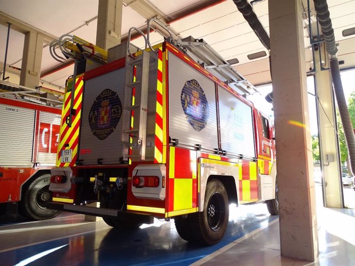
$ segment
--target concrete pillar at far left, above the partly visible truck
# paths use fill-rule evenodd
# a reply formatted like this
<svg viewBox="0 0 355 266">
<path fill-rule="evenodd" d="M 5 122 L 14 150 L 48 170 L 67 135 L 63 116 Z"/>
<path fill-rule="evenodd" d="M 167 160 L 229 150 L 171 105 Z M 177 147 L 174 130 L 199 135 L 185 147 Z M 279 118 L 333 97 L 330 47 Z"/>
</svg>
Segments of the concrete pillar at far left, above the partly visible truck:
<svg viewBox="0 0 355 266">
<path fill-rule="evenodd" d="M 35 88 L 40 84 L 43 36 L 29 31 L 25 34 L 20 85 Z"/>
</svg>

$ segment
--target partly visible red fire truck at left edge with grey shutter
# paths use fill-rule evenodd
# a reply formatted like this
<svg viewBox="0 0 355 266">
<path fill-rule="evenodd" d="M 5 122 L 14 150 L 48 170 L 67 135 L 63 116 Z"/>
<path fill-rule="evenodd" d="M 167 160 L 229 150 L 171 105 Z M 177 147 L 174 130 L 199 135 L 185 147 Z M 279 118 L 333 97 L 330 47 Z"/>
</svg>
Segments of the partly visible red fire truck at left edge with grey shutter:
<svg viewBox="0 0 355 266">
<path fill-rule="evenodd" d="M 12 214 L 18 208 L 35 220 L 53 218 L 59 211 L 44 204 L 51 201 L 61 112 L 20 99 L 0 97 L 0 208 Z"/>
</svg>

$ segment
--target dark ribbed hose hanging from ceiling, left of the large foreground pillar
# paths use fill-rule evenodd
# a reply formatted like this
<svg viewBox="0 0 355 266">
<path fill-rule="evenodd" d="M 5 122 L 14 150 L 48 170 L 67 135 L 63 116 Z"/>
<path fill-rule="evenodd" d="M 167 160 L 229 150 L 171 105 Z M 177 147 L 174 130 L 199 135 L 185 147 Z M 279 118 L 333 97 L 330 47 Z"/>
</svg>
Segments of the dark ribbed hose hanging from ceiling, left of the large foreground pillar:
<svg viewBox="0 0 355 266">
<path fill-rule="evenodd" d="M 262 45 L 270 50 L 270 37 L 268 32 L 261 25 L 249 2 L 246 0 L 233 0 L 233 2 L 236 4 L 239 12 L 244 16 L 246 22 L 249 23 L 250 27 L 254 30 Z"/>
</svg>

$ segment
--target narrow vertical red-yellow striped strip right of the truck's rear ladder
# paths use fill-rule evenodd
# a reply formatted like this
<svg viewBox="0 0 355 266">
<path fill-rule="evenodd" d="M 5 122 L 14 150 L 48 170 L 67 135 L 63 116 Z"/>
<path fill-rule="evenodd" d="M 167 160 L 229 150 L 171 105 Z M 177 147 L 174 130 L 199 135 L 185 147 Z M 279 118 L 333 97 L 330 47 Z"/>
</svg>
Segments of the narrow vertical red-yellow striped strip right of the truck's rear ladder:
<svg viewBox="0 0 355 266">
<path fill-rule="evenodd" d="M 158 48 L 158 69 L 156 82 L 156 115 L 155 115 L 155 141 L 154 163 L 165 163 L 163 160 L 163 49 Z"/>
</svg>

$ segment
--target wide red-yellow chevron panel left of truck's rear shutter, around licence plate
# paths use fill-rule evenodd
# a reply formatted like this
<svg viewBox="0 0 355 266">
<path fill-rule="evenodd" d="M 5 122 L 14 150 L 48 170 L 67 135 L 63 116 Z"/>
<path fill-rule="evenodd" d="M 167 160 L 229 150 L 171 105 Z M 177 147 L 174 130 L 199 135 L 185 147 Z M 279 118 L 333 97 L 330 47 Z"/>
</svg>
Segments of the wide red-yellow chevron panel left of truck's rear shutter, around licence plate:
<svg viewBox="0 0 355 266">
<path fill-rule="evenodd" d="M 76 114 L 73 116 L 72 127 L 68 127 L 65 121 L 70 113 L 70 102 L 72 101 L 72 83 L 70 80 L 67 82 L 67 87 L 65 90 L 65 100 L 62 109 L 62 121 L 60 127 L 60 136 L 58 144 L 58 154 L 57 154 L 57 167 L 67 167 L 74 166 L 77 161 L 78 155 L 78 141 L 79 141 L 79 126 L 80 126 L 80 116 L 81 116 L 81 101 L 83 92 L 83 75 L 79 75 L 75 83 L 74 92 L 74 105 L 73 108 L 76 110 Z M 71 163 L 61 163 L 60 156 L 62 150 L 72 149 L 72 162 Z"/>
</svg>

